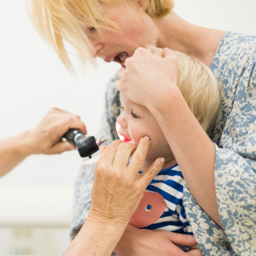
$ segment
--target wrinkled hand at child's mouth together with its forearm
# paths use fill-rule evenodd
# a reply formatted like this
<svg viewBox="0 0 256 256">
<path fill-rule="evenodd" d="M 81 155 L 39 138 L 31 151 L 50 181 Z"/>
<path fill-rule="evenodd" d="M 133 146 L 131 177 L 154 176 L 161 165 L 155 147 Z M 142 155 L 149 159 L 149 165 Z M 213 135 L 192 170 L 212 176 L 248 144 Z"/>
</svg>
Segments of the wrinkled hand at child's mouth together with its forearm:
<svg viewBox="0 0 256 256">
<path fill-rule="evenodd" d="M 162 170 L 164 159 L 156 159 L 138 175 L 149 147 L 150 140 L 145 137 L 141 138 L 137 149 L 135 144 L 114 141 L 103 151 L 96 166 L 88 219 L 64 255 L 112 254 L 144 189 Z"/>
</svg>

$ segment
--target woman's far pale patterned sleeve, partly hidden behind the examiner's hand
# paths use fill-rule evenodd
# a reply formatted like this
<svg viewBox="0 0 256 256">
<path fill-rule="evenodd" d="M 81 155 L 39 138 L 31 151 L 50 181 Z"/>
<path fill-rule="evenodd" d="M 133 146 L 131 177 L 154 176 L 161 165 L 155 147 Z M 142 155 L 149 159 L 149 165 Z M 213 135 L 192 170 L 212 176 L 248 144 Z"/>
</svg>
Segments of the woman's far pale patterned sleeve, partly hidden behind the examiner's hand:
<svg viewBox="0 0 256 256">
<path fill-rule="evenodd" d="M 98 138 L 106 138 L 106 145 L 109 145 L 112 141 L 118 138 L 118 134 L 115 129 L 115 121 L 118 117 L 119 92 L 115 90 L 114 83 L 118 79 L 115 76 L 106 88 L 106 106 L 103 113 L 103 118 L 100 122 L 100 131 L 97 132 Z M 99 154 L 97 152 L 95 156 Z M 73 204 L 73 216 L 71 222 L 71 238 L 74 239 L 76 234 L 79 233 L 82 225 L 88 217 L 88 211 L 91 206 L 91 187 L 94 182 L 94 165 L 82 165 L 79 170 L 79 176 L 77 177 L 75 184 L 75 196 Z"/>
</svg>

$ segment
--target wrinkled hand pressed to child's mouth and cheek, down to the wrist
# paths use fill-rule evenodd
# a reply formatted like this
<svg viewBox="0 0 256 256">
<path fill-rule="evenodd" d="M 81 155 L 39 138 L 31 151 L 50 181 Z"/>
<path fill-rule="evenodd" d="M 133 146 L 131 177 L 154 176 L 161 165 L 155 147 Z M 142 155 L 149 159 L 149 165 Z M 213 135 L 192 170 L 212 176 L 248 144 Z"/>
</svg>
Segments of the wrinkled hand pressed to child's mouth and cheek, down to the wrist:
<svg viewBox="0 0 256 256">
<path fill-rule="evenodd" d="M 137 149 L 135 144 L 120 140 L 105 148 L 96 166 L 87 222 L 115 225 L 122 230 L 127 227 L 144 190 L 164 163 L 164 159 L 156 159 L 153 165 L 138 175 L 149 147 L 150 141 L 145 137 L 141 138 Z"/>
</svg>

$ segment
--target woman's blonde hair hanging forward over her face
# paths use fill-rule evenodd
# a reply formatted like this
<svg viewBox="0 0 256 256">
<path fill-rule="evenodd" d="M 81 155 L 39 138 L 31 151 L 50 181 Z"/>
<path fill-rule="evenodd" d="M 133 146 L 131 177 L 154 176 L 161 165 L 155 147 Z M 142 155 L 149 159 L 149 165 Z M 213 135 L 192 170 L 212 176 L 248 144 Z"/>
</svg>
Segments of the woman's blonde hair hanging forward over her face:
<svg viewBox="0 0 256 256">
<path fill-rule="evenodd" d="M 142 10 L 150 16 L 161 17 L 174 7 L 174 0 L 146 0 Z M 100 3 L 117 4 L 125 0 L 27 0 L 28 13 L 40 35 L 53 46 L 68 70 L 73 70 L 64 42 L 70 43 L 78 52 L 82 63 L 93 62 L 93 46 L 86 26 L 100 33 L 107 28 L 118 30 L 115 22 L 106 19 Z"/>
</svg>

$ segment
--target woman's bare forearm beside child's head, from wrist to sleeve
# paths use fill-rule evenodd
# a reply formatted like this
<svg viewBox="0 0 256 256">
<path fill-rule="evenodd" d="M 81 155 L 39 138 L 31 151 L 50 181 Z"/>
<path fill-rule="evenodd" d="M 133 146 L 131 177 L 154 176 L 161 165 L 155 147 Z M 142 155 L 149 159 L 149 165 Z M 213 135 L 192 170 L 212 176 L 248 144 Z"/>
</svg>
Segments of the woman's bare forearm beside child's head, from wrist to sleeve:
<svg viewBox="0 0 256 256">
<path fill-rule="evenodd" d="M 190 192 L 204 212 L 221 227 L 213 142 L 192 115 L 180 91 L 169 94 L 165 102 L 149 109 L 168 140 Z"/>
</svg>

